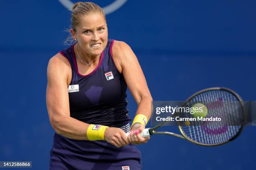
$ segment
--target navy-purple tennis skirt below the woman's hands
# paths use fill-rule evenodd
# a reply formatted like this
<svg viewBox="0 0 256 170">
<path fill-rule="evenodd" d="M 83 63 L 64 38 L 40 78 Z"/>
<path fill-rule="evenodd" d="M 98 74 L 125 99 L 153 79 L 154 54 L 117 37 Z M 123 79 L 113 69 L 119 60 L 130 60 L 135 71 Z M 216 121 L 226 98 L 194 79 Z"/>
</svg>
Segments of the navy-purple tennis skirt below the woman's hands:
<svg viewBox="0 0 256 170">
<path fill-rule="evenodd" d="M 73 140 L 55 133 L 50 170 L 141 170 L 141 153 L 133 144 L 117 148 L 105 140 Z"/>
</svg>

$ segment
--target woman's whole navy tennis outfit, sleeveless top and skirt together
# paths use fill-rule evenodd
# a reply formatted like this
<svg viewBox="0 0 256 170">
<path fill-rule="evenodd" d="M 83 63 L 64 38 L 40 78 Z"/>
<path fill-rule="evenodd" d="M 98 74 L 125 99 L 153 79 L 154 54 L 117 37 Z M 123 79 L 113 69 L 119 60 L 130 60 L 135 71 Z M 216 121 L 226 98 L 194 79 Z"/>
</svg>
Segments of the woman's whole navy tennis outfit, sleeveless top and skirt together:
<svg viewBox="0 0 256 170">
<path fill-rule="evenodd" d="M 127 85 L 113 62 L 113 42 L 108 40 L 99 64 L 89 75 L 79 74 L 74 45 L 60 53 L 72 67 L 72 81 L 68 87 L 70 116 L 89 124 L 123 129 L 131 119 L 126 109 Z M 50 170 L 120 170 L 127 165 L 133 170 L 141 170 L 141 153 L 133 144 L 117 148 L 105 140 L 74 140 L 54 134 Z"/>
</svg>

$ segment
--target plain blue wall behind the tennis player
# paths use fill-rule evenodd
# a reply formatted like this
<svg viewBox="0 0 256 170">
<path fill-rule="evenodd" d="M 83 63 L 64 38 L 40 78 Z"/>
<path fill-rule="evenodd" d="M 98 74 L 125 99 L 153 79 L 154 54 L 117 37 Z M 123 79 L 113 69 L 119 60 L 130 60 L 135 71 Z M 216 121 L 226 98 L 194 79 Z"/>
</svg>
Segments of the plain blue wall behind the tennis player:
<svg viewBox="0 0 256 170">
<path fill-rule="evenodd" d="M 104 7 L 113 0 L 92 2 Z M 70 12 L 58 0 L 0 3 L 0 160 L 28 160 L 33 169 L 46 170 L 54 134 L 45 101 L 46 67 L 66 48 L 62 42 Z M 154 100 L 186 100 L 215 86 L 256 100 L 255 9 L 255 0 L 128 0 L 107 15 L 109 38 L 132 47 Z M 128 101 L 133 117 L 136 103 L 130 92 Z M 179 133 L 177 127 L 168 129 Z M 152 136 L 137 148 L 144 170 L 254 169 L 255 130 L 246 127 L 239 138 L 219 147 Z"/>
</svg>

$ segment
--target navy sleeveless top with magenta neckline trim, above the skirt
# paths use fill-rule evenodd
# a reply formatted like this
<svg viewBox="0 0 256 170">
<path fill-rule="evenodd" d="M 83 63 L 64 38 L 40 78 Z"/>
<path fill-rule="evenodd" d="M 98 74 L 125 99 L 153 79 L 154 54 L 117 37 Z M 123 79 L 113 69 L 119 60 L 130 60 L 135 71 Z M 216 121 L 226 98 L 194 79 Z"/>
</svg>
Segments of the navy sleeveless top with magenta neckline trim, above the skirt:
<svg viewBox="0 0 256 170">
<path fill-rule="evenodd" d="M 108 40 L 100 62 L 88 75 L 78 72 L 74 45 L 61 50 L 72 67 L 72 81 L 68 87 L 70 116 L 89 124 L 120 127 L 131 119 L 126 109 L 127 85 L 118 72 L 112 57 L 114 40 Z"/>
</svg>

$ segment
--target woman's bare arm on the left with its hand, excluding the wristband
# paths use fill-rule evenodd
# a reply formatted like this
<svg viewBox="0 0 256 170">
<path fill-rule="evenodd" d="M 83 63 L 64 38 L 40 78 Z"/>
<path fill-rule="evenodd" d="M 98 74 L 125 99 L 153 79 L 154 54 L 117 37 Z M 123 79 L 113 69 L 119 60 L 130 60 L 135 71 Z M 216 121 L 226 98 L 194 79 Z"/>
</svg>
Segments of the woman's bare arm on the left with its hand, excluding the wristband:
<svg viewBox="0 0 256 170">
<path fill-rule="evenodd" d="M 71 76 L 69 61 L 60 53 L 49 60 L 46 90 L 49 119 L 56 133 L 75 140 L 88 140 L 86 132 L 90 124 L 70 117 L 67 87 Z M 128 144 L 127 137 L 120 128 L 107 128 L 104 138 L 116 147 Z"/>
</svg>

